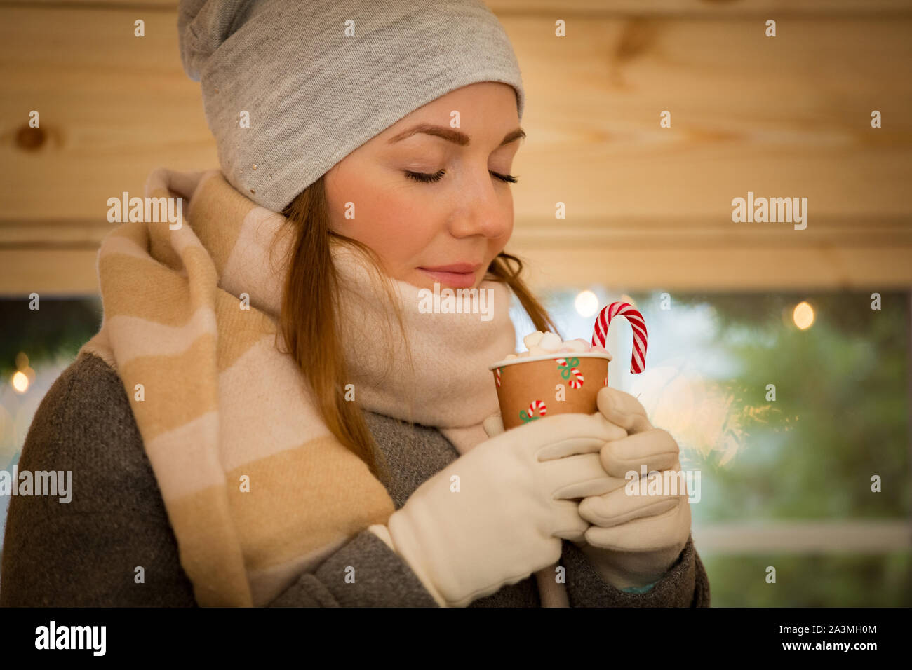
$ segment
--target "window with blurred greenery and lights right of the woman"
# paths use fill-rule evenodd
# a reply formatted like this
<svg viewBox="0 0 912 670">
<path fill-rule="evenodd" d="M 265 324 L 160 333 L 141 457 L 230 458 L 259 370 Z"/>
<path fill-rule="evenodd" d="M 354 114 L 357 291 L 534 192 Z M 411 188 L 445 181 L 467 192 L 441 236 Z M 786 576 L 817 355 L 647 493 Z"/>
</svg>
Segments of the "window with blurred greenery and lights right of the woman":
<svg viewBox="0 0 912 670">
<path fill-rule="evenodd" d="M 592 335 L 581 290 L 542 294 L 565 338 Z M 912 605 L 910 294 L 872 309 L 873 291 L 592 290 L 599 309 L 623 300 L 646 320 L 641 375 L 629 325 L 612 321 L 609 382 L 700 470 L 692 532 L 713 605 Z M 513 316 L 521 346 L 533 328 L 518 304 Z"/>
</svg>

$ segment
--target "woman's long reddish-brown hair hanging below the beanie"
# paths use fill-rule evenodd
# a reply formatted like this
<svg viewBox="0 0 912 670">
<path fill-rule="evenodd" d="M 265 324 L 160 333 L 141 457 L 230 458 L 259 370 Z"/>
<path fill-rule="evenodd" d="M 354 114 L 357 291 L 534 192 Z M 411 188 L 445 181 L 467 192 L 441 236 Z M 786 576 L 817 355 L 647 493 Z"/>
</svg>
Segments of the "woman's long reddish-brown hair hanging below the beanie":
<svg viewBox="0 0 912 670">
<path fill-rule="evenodd" d="M 368 267 L 386 286 L 389 304 L 409 352 L 402 314 L 393 299 L 389 277 L 383 273 L 377 254 L 367 245 L 330 230 L 324 177 L 301 191 L 282 214 L 287 222 L 281 233 L 294 235 L 285 259 L 287 273 L 279 316 L 279 331 L 288 347 L 286 353 L 295 358 L 309 383 L 326 428 L 367 463 L 375 477 L 385 480 L 389 469 L 361 409 L 357 401 L 350 402 L 345 397 L 347 365 L 339 337 L 339 276 L 331 245 L 345 244 L 368 261 Z M 520 279 L 522 271 L 520 259 L 500 253 L 488 267 L 486 279 L 506 283 L 536 329 L 557 333 L 550 314 Z"/>
</svg>

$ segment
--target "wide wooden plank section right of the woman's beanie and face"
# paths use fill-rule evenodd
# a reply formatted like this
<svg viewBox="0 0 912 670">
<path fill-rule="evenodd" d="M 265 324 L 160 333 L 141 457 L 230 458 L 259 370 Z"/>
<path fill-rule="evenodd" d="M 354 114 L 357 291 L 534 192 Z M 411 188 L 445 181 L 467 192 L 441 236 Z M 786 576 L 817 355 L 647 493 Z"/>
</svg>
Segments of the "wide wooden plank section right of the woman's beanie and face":
<svg viewBox="0 0 912 670">
<path fill-rule="evenodd" d="M 517 217 L 561 201 L 568 217 L 713 218 L 748 191 L 807 197 L 818 216 L 912 211 L 905 20 L 797 20 L 774 40 L 742 20 L 540 27 L 509 24 L 529 73 Z M 889 124 L 871 129 L 872 109 Z"/>
</svg>

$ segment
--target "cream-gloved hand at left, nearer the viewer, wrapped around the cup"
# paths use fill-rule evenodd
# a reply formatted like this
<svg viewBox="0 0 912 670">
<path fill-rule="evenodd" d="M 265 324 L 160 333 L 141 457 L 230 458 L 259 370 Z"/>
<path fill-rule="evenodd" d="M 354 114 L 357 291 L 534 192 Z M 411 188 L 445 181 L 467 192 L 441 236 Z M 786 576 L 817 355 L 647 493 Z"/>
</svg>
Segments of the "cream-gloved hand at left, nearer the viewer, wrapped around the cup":
<svg viewBox="0 0 912 670">
<path fill-rule="evenodd" d="M 562 539 L 582 540 L 573 499 L 610 490 L 599 451 L 620 433 L 601 413 L 535 419 L 454 460 L 370 530 L 441 606 L 467 605 L 556 562 Z"/>
</svg>

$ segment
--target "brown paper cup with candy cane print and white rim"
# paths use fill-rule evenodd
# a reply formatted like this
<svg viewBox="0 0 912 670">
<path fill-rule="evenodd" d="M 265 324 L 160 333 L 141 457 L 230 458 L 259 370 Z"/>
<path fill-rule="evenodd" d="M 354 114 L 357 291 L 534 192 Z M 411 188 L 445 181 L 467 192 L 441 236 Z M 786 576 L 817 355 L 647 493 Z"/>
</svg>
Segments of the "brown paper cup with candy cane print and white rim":
<svg viewBox="0 0 912 670">
<path fill-rule="evenodd" d="M 597 412 L 596 396 L 607 386 L 610 360 L 611 355 L 602 352 L 562 352 L 511 358 L 489 366 L 503 429 L 555 414 Z"/>
</svg>

